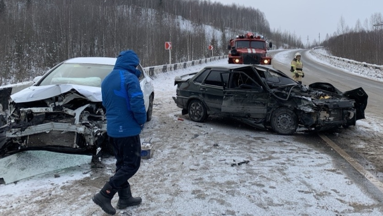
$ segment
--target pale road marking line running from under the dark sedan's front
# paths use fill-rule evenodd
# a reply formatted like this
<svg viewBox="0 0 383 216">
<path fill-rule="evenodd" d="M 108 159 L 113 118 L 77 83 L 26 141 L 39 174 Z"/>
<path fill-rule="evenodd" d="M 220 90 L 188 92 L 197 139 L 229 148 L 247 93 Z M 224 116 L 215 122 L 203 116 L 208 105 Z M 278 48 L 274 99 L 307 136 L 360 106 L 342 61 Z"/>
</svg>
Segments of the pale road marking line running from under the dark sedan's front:
<svg viewBox="0 0 383 216">
<path fill-rule="evenodd" d="M 318 134 L 319 137 L 324 140 L 329 146 L 331 146 L 336 152 L 339 153 L 340 156 L 342 156 L 347 162 L 349 162 L 360 174 L 365 176 L 365 178 L 370 181 L 373 185 L 376 186 L 382 193 L 383 193 L 383 183 L 379 181 L 377 178 L 375 178 L 374 175 L 372 175 L 368 170 L 365 170 L 362 165 L 360 165 L 354 158 L 352 158 L 349 154 L 347 154 L 342 148 L 340 148 L 337 144 L 332 142 L 326 135 L 324 134 Z"/>
</svg>

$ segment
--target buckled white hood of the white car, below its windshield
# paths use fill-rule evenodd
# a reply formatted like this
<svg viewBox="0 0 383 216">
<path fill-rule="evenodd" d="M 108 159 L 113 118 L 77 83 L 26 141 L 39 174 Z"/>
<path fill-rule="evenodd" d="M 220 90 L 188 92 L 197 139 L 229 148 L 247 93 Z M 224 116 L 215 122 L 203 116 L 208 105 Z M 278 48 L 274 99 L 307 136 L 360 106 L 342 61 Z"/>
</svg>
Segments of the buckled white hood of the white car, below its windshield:
<svg viewBox="0 0 383 216">
<path fill-rule="evenodd" d="M 101 102 L 101 88 L 93 86 L 81 86 L 74 84 L 60 84 L 49 86 L 31 86 L 22 91 L 11 95 L 11 98 L 16 103 L 39 101 L 50 97 L 58 96 L 71 90 L 79 92 L 92 102 Z"/>
</svg>

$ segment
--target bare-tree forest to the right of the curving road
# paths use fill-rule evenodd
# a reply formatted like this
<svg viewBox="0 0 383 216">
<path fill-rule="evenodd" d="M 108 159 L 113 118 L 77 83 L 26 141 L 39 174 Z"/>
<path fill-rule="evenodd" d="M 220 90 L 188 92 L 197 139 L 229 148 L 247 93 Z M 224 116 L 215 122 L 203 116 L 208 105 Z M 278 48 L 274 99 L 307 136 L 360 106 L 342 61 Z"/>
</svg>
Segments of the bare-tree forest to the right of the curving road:
<svg viewBox="0 0 383 216">
<path fill-rule="evenodd" d="M 373 13 L 370 19 L 358 19 L 355 27 L 345 24 L 341 16 L 334 35 L 321 43 L 332 55 L 370 64 L 383 65 L 383 16 Z"/>
</svg>

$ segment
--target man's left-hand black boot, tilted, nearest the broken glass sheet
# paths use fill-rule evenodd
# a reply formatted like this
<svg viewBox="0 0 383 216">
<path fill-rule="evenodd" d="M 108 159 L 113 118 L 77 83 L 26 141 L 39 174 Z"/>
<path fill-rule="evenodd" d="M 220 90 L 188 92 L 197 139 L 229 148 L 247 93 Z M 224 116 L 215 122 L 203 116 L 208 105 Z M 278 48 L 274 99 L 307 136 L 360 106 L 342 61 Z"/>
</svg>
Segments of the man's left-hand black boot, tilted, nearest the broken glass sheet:
<svg viewBox="0 0 383 216">
<path fill-rule="evenodd" d="M 94 203 L 98 204 L 106 213 L 116 214 L 116 209 L 113 208 L 112 204 L 110 203 L 116 192 L 117 190 L 113 189 L 109 182 L 106 182 L 100 192 L 96 193 L 92 197 L 92 200 Z"/>
</svg>

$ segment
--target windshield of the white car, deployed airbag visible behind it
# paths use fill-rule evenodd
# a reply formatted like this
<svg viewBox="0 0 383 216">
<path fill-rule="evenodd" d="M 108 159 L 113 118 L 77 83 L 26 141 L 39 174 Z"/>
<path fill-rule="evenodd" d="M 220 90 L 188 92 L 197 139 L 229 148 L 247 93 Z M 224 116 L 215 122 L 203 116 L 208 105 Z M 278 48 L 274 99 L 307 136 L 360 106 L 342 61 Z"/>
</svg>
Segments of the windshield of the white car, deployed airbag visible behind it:
<svg viewBox="0 0 383 216">
<path fill-rule="evenodd" d="M 112 70 L 113 65 L 64 63 L 51 71 L 39 86 L 77 84 L 101 87 L 101 82 Z"/>
</svg>

